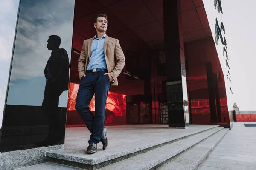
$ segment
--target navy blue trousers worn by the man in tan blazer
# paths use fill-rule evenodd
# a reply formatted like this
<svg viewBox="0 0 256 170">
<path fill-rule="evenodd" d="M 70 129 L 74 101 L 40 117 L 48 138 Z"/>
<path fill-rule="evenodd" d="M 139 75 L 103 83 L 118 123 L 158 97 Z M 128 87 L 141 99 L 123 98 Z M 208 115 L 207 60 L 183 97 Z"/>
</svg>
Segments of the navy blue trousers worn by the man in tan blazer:
<svg viewBox="0 0 256 170">
<path fill-rule="evenodd" d="M 105 107 L 110 87 L 109 76 L 103 75 L 106 71 L 86 73 L 81 77 L 81 83 L 76 97 L 76 111 L 84 120 L 91 133 L 90 143 L 99 143 L 105 121 Z M 90 104 L 95 94 L 95 116 L 90 111 Z"/>
</svg>

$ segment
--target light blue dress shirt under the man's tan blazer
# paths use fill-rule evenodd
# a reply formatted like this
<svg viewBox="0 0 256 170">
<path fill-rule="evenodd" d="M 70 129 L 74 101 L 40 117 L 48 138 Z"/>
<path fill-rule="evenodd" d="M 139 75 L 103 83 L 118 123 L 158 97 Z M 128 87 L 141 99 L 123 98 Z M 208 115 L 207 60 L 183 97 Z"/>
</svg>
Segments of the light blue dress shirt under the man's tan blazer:
<svg viewBox="0 0 256 170">
<path fill-rule="evenodd" d="M 97 38 L 97 35 L 94 36 L 92 48 L 91 48 L 91 57 L 90 62 L 87 66 L 87 70 L 93 68 L 107 69 L 107 64 L 104 54 L 104 43 L 105 43 L 106 34 Z"/>
</svg>

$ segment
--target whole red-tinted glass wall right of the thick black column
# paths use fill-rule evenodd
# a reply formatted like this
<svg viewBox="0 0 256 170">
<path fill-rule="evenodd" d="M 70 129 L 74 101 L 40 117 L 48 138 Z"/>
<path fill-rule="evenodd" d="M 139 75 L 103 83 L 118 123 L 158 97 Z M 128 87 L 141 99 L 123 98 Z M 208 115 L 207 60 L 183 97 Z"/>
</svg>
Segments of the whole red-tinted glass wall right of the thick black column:
<svg viewBox="0 0 256 170">
<path fill-rule="evenodd" d="M 224 75 L 212 37 L 187 42 L 186 51 L 191 123 L 229 124 Z"/>
</svg>

